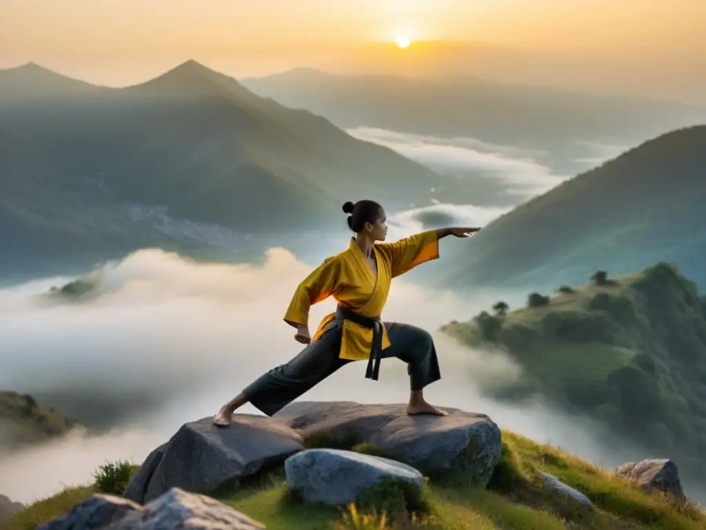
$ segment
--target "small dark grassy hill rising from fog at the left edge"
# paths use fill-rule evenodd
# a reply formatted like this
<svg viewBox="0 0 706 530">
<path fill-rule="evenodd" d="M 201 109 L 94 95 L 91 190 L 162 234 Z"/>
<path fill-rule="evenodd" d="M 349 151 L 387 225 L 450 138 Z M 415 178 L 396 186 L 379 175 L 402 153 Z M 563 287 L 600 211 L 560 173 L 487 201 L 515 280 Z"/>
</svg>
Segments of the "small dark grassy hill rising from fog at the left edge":
<svg viewBox="0 0 706 530">
<path fill-rule="evenodd" d="M 46 442 L 80 425 L 32 396 L 0 391 L 0 452 Z"/>
</svg>

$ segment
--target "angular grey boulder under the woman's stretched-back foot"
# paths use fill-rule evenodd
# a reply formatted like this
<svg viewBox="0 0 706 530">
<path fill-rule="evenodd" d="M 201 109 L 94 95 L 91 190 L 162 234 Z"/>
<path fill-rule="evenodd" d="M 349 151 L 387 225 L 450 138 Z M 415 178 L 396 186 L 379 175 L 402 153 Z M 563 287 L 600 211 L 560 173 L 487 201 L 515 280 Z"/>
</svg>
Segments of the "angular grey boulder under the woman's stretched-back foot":
<svg viewBox="0 0 706 530">
<path fill-rule="evenodd" d="M 157 447 L 133 476 L 124 497 L 144 504 L 171 488 L 208 493 L 226 483 L 235 485 L 299 450 L 299 432 L 272 418 L 239 414 L 226 429 L 203 418 L 186 423 Z"/>
</svg>

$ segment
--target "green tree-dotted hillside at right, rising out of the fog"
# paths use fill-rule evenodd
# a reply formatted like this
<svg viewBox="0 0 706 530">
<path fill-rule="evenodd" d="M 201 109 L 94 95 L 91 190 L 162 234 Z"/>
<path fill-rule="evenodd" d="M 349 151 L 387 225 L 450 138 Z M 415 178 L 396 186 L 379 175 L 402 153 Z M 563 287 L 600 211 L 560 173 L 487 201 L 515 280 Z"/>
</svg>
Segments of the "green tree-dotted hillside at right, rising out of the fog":
<svg viewBox="0 0 706 530">
<path fill-rule="evenodd" d="M 658 264 L 562 291 L 443 331 L 471 346 L 500 347 L 520 363 L 522 382 L 486 389 L 496 397 L 547 396 L 673 458 L 685 477 L 701 482 L 706 304 L 694 283 Z"/>
</svg>

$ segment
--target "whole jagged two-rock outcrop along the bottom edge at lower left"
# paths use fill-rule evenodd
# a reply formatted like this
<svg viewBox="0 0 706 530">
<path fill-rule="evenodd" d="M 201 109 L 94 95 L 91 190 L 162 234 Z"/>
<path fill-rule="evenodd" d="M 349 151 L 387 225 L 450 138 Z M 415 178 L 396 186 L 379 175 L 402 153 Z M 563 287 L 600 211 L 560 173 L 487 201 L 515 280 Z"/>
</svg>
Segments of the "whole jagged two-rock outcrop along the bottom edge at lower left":
<svg viewBox="0 0 706 530">
<path fill-rule="evenodd" d="M 205 495 L 172 488 L 148 505 L 91 495 L 38 530 L 263 530 L 265 526 Z"/>
</svg>

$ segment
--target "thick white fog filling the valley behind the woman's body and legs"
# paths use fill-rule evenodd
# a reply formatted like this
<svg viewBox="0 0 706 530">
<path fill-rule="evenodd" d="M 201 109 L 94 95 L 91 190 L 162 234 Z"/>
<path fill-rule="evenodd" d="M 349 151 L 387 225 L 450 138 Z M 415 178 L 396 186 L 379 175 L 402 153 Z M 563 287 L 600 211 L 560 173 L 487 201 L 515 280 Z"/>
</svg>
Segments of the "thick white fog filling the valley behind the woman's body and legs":
<svg viewBox="0 0 706 530">
<path fill-rule="evenodd" d="M 464 240 L 444 240 L 462 245 Z M 345 244 L 345 243 L 344 243 Z M 44 397 L 102 425 L 32 449 L 0 455 L 0 493 L 30 502 L 66 485 L 90 483 L 107 460 L 136 463 L 187 421 L 211 416 L 227 399 L 300 348 L 282 321 L 294 288 L 312 269 L 273 248 L 262 265 L 196 264 L 143 250 L 95 275 L 96 296 L 52 303 L 42 296 L 71 278 L 46 278 L 0 290 L 0 388 Z M 442 266 L 439 261 L 424 264 Z M 384 317 L 430 331 L 467 320 L 496 300 L 524 293 L 478 290 L 472 297 L 393 282 Z M 315 305 L 311 331 L 333 300 Z M 513 382 L 520 367 L 499 351 L 466 348 L 435 333 L 443 381 L 426 396 L 439 406 L 487 413 L 502 428 L 551 442 L 606 466 L 644 457 L 590 420 L 567 417 L 537 399 L 521 406 L 482 396 L 484 385 Z M 378 382 L 353 363 L 301 399 L 404 403 L 403 363 L 385 360 Z M 48 401 L 47 401 L 48 400 Z M 246 406 L 241 412 L 258 413 Z"/>
</svg>

